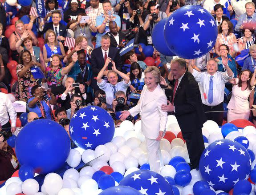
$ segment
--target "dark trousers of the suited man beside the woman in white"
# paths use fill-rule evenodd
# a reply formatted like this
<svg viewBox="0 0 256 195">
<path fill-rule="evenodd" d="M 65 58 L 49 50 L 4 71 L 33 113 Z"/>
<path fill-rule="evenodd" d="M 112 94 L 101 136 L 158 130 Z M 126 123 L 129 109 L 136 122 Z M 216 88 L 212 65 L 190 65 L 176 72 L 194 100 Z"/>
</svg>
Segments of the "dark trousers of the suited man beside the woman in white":
<svg viewBox="0 0 256 195">
<path fill-rule="evenodd" d="M 192 132 L 182 132 L 183 139 L 187 143 L 187 151 L 192 168 L 199 167 L 199 160 L 204 150 L 202 129 Z"/>
</svg>

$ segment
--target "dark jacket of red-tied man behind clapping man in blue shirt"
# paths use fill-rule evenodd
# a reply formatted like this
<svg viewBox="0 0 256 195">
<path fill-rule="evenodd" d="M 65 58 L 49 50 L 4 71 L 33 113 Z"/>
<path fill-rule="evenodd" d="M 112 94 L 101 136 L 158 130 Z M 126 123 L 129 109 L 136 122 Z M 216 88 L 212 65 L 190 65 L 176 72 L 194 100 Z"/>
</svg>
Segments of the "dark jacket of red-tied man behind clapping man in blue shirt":
<svg viewBox="0 0 256 195">
<path fill-rule="evenodd" d="M 119 50 L 117 48 L 110 47 L 108 57 L 112 58 L 112 60 L 116 64 L 116 68 L 122 72 L 122 60 L 119 54 Z M 93 77 L 97 77 L 100 70 L 103 68 L 105 64 L 103 54 L 102 54 L 102 47 L 93 49 L 91 55 L 91 67 L 93 70 Z M 108 70 L 112 70 L 112 63 L 109 63 Z"/>
</svg>

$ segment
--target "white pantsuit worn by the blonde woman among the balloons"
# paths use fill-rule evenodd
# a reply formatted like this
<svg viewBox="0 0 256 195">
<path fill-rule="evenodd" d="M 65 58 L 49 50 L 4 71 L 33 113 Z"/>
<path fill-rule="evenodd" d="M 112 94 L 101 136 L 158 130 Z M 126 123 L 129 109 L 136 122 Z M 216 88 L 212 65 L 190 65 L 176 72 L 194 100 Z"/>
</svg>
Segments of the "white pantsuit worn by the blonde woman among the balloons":
<svg viewBox="0 0 256 195">
<path fill-rule="evenodd" d="M 163 166 L 160 141 L 155 139 L 159 131 L 165 133 L 166 130 L 167 112 L 161 109 L 161 105 L 166 103 L 167 97 L 159 84 L 153 92 L 149 92 L 147 86 L 144 85 L 138 104 L 129 110 L 132 116 L 138 113 L 141 115 L 142 133 L 146 137 L 150 169 L 155 172 L 160 172 Z"/>
</svg>

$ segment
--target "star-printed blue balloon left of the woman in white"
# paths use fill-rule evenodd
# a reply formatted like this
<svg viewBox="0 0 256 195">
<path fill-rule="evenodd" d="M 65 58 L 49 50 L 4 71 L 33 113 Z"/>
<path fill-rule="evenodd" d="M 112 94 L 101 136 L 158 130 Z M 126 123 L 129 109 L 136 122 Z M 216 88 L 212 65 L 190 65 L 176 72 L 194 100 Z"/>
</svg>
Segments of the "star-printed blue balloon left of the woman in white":
<svg viewBox="0 0 256 195">
<path fill-rule="evenodd" d="M 98 145 L 110 142 L 114 131 L 111 115 L 98 106 L 79 109 L 69 124 L 69 134 L 73 142 L 84 149 L 94 150 Z"/>
</svg>

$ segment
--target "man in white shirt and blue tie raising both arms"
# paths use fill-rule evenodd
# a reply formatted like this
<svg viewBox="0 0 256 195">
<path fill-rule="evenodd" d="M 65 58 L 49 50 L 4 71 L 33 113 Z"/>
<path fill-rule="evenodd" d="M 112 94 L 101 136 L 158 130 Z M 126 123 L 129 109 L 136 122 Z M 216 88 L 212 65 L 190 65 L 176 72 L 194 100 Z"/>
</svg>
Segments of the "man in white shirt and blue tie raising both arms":
<svg viewBox="0 0 256 195">
<path fill-rule="evenodd" d="M 222 60 L 226 72 L 219 72 L 218 62 L 210 59 L 207 62 L 207 72 L 198 72 L 194 70 L 191 63 L 188 63 L 188 71 L 195 77 L 199 84 L 203 108 L 207 120 L 215 121 L 219 126 L 223 122 L 223 99 L 225 83 L 234 77 L 231 68 L 228 67 L 228 58 Z M 219 111 L 219 112 L 218 112 Z"/>
</svg>

